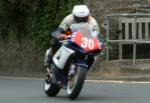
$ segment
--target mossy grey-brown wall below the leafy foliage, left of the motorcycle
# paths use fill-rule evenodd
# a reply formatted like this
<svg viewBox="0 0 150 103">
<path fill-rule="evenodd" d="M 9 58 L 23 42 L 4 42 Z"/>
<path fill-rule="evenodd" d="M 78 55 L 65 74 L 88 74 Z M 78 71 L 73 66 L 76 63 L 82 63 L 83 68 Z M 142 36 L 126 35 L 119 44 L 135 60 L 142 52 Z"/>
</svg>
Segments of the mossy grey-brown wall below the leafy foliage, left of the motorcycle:
<svg viewBox="0 0 150 103">
<path fill-rule="evenodd" d="M 42 73 L 43 56 L 37 55 L 30 40 L 22 43 L 0 39 L 0 75 Z"/>
</svg>

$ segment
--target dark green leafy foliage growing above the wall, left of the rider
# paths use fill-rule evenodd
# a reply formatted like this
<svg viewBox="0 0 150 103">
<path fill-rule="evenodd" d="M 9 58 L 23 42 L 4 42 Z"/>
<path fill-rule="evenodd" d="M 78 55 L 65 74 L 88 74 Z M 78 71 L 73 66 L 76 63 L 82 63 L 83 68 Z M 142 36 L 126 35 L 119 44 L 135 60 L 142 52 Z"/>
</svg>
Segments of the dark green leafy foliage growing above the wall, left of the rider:
<svg viewBox="0 0 150 103">
<path fill-rule="evenodd" d="M 50 33 L 83 0 L 0 0 L 0 38 L 21 42 L 31 39 L 41 54 L 49 46 Z"/>
</svg>

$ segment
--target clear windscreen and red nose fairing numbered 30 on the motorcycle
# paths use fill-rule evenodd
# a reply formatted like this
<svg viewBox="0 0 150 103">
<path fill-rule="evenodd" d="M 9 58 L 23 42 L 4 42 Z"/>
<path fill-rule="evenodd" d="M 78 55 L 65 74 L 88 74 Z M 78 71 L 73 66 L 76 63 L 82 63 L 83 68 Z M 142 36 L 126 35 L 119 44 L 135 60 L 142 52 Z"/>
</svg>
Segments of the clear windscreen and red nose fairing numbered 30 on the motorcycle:
<svg viewBox="0 0 150 103">
<path fill-rule="evenodd" d="M 79 23 L 71 25 L 73 32 L 71 42 L 83 48 L 86 52 L 101 49 L 97 36 L 93 36 L 92 26 L 88 23 Z"/>
</svg>

